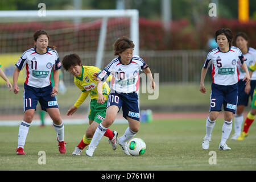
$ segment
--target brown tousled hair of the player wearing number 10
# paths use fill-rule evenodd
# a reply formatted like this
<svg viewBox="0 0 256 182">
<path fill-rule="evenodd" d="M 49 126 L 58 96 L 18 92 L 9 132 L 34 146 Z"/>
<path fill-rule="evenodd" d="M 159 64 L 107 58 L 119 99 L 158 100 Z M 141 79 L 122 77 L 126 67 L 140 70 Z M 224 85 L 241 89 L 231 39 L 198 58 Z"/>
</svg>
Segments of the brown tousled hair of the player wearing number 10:
<svg viewBox="0 0 256 182">
<path fill-rule="evenodd" d="M 114 43 L 114 55 L 119 55 L 126 49 L 134 48 L 134 43 L 126 36 L 121 36 Z"/>
</svg>

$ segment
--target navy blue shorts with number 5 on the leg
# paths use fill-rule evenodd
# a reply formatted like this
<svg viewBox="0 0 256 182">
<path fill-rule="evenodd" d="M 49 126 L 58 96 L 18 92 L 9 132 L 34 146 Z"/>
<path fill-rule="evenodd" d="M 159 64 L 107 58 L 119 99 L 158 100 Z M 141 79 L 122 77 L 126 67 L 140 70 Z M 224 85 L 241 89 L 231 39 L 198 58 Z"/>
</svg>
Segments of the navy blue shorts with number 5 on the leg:
<svg viewBox="0 0 256 182">
<path fill-rule="evenodd" d="M 221 111 L 222 104 L 225 111 L 236 113 L 238 84 L 217 85 L 212 83 L 210 93 L 210 111 Z"/>
</svg>

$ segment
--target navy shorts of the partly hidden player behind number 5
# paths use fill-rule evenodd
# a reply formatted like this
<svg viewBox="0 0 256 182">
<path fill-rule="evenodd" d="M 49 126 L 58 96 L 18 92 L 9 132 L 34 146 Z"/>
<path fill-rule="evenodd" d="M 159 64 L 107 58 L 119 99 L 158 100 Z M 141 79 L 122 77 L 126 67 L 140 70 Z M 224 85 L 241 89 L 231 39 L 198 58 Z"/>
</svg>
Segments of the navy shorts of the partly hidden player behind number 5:
<svg viewBox="0 0 256 182">
<path fill-rule="evenodd" d="M 242 81 L 239 80 L 238 81 L 238 102 L 237 105 L 248 105 L 249 102 L 249 97 L 251 97 L 251 101 L 253 100 L 253 93 L 254 93 L 254 89 L 256 86 L 256 80 L 251 80 L 250 81 L 250 85 L 251 85 L 251 90 L 249 92 L 249 94 L 245 93 L 245 82 L 246 81 Z"/>
</svg>

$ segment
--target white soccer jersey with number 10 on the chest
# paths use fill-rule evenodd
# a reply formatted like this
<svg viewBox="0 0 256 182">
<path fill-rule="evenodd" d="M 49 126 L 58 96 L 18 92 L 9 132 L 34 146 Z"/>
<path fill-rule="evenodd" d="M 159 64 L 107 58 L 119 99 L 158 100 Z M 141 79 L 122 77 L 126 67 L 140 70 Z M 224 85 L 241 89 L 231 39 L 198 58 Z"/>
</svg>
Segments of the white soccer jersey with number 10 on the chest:
<svg viewBox="0 0 256 182">
<path fill-rule="evenodd" d="M 148 65 L 139 56 L 133 56 L 127 65 L 121 63 L 120 57 L 116 57 L 97 77 L 105 81 L 112 73 L 111 89 L 119 93 L 131 93 L 139 89 L 139 71 L 147 67 Z"/>
</svg>

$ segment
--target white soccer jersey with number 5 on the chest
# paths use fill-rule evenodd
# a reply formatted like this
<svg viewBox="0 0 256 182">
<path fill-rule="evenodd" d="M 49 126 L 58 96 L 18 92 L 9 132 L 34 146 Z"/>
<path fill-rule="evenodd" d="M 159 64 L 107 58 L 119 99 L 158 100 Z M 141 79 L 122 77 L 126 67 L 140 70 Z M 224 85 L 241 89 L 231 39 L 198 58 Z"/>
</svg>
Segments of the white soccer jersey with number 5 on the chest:
<svg viewBox="0 0 256 182">
<path fill-rule="evenodd" d="M 237 47 L 230 47 L 228 52 L 213 49 L 207 55 L 204 68 L 212 64 L 212 81 L 217 85 L 234 85 L 238 82 L 237 65 L 242 65 L 245 56 Z"/>
</svg>

